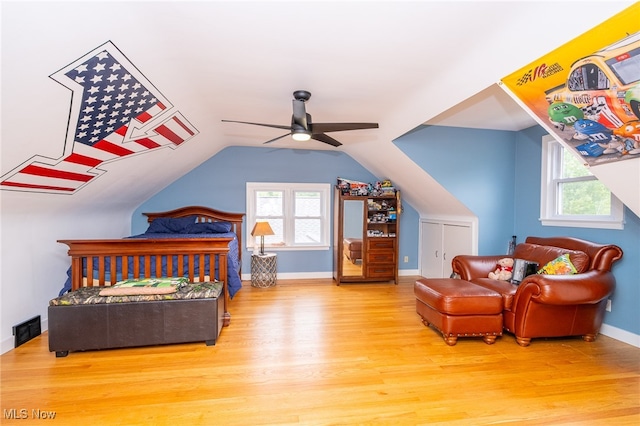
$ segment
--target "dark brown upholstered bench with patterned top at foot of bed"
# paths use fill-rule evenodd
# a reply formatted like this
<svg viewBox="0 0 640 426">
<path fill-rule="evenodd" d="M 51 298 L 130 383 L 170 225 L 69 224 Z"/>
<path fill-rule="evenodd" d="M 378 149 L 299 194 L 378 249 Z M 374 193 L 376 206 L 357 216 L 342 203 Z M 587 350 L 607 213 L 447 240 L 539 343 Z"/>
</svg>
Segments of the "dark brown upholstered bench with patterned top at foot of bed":
<svg viewBox="0 0 640 426">
<path fill-rule="evenodd" d="M 174 343 L 215 345 L 229 324 L 219 283 L 146 296 L 100 296 L 102 288 L 82 287 L 49 302 L 49 350 L 56 357 L 70 351 Z"/>
</svg>

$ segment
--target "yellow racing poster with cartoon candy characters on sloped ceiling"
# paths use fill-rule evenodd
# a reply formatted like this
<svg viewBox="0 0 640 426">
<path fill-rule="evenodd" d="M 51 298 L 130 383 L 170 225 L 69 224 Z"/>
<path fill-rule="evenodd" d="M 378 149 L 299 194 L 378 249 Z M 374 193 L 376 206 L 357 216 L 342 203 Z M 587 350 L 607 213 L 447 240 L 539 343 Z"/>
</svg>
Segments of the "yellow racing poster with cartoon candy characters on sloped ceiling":
<svg viewBox="0 0 640 426">
<path fill-rule="evenodd" d="M 586 164 L 640 158 L 640 3 L 501 84 Z"/>
</svg>

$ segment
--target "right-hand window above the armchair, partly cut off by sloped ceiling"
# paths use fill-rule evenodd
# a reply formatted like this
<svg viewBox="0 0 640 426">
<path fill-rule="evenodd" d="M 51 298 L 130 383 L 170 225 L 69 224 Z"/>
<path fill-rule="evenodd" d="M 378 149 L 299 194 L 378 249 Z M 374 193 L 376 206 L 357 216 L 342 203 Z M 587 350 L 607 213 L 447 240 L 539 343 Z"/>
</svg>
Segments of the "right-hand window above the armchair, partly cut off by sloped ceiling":
<svg viewBox="0 0 640 426">
<path fill-rule="evenodd" d="M 623 206 L 551 136 L 542 139 L 540 218 L 545 226 L 623 229 Z"/>
</svg>

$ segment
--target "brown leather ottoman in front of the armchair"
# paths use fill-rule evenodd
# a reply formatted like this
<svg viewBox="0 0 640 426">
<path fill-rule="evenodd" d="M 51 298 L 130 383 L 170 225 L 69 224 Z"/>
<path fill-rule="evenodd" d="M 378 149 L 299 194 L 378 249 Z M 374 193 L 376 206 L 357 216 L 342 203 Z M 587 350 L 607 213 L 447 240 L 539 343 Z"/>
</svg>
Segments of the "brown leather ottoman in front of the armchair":
<svg viewBox="0 0 640 426">
<path fill-rule="evenodd" d="M 502 336 L 502 295 L 468 281 L 422 278 L 415 282 L 416 311 L 426 325 L 453 346 L 458 337 L 482 336 L 486 344 Z"/>
</svg>

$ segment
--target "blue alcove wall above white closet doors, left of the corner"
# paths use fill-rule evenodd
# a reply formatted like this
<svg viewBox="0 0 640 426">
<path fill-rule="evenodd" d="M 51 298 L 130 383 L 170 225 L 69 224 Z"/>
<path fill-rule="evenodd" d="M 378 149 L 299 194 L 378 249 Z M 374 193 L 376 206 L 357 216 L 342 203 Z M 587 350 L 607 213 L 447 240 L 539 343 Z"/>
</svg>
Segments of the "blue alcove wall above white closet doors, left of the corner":
<svg viewBox="0 0 640 426">
<path fill-rule="evenodd" d="M 516 132 L 422 126 L 396 146 L 478 216 L 478 253 L 505 253 L 514 231 Z"/>
</svg>

